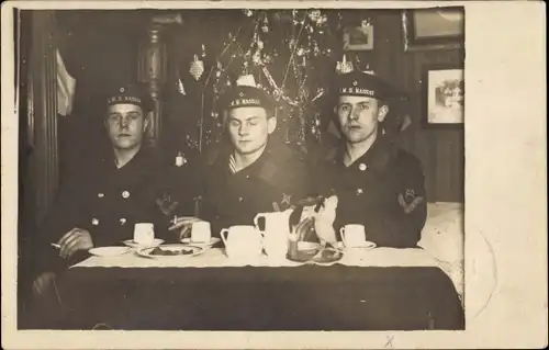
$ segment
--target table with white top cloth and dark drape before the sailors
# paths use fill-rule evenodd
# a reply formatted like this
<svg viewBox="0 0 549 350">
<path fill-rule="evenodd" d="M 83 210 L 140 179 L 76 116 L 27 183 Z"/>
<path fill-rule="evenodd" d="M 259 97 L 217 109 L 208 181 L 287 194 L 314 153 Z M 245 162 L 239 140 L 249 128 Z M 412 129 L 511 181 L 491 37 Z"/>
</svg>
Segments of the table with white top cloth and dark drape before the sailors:
<svg viewBox="0 0 549 350">
<path fill-rule="evenodd" d="M 464 329 L 449 275 L 422 248 L 344 253 L 329 264 L 197 256 L 91 256 L 55 283 L 30 329 Z"/>
</svg>

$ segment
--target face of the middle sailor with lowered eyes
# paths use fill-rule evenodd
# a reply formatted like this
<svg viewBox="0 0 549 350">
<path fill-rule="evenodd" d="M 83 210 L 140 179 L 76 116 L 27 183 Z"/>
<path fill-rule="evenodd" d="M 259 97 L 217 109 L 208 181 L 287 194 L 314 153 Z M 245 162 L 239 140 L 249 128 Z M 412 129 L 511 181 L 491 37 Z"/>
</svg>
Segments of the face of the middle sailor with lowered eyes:
<svg viewBox="0 0 549 350">
<path fill-rule="evenodd" d="M 277 120 L 268 117 L 264 108 L 243 106 L 227 113 L 231 143 L 240 155 L 253 154 L 261 149 L 276 126 Z"/>
</svg>

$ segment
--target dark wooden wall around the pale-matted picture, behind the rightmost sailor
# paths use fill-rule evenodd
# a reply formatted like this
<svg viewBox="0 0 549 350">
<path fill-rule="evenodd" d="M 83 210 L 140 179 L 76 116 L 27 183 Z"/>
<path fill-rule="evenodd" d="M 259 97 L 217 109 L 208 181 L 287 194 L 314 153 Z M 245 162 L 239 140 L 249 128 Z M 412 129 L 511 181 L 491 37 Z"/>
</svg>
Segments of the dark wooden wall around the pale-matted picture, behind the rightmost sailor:
<svg viewBox="0 0 549 350">
<path fill-rule="evenodd" d="M 437 64 L 460 65 L 462 49 L 404 52 L 401 13 L 379 11 L 374 22 L 376 71 L 411 97 L 413 125 L 400 139 L 423 162 L 429 201 L 463 201 L 463 129 L 426 129 L 422 125 L 423 71 Z"/>
</svg>

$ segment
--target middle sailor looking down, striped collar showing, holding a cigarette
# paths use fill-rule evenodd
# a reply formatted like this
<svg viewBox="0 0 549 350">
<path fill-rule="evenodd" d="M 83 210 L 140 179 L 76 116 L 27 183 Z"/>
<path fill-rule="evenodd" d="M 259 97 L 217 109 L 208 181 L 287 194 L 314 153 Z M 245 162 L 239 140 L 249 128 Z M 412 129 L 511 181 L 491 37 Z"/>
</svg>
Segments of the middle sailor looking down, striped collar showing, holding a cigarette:
<svg viewBox="0 0 549 350">
<path fill-rule="evenodd" d="M 214 235 L 253 225 L 256 214 L 283 211 L 309 194 L 304 161 L 270 136 L 277 126 L 271 98 L 240 86 L 226 92 L 221 105 L 228 143 L 202 162 L 200 218 L 211 223 Z M 188 223 L 183 218 L 173 228 Z"/>
</svg>

